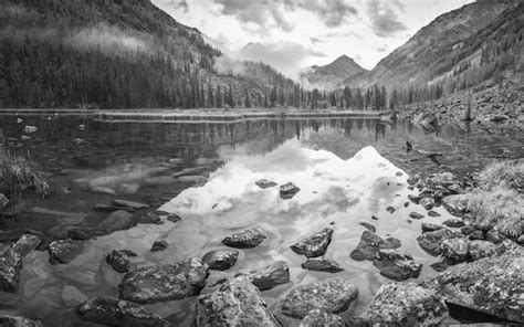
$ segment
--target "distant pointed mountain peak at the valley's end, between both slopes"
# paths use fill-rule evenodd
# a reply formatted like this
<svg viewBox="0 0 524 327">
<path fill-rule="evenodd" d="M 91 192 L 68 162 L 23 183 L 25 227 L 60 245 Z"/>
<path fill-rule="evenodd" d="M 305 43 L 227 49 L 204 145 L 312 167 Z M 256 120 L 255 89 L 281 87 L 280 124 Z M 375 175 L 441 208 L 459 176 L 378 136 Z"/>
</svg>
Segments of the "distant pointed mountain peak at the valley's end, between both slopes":
<svg viewBox="0 0 524 327">
<path fill-rule="evenodd" d="M 327 65 L 314 65 L 307 68 L 301 74 L 301 80 L 305 85 L 313 88 L 332 89 L 338 83 L 365 72 L 367 70 L 363 68 L 352 57 L 340 55 Z"/>
</svg>

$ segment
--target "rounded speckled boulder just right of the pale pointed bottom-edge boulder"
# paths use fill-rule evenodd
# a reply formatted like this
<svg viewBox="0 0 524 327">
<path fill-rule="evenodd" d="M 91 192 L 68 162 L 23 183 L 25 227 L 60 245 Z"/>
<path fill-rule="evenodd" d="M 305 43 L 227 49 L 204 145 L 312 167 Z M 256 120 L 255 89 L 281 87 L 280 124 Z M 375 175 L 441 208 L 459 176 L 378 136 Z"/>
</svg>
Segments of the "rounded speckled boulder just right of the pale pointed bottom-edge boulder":
<svg viewBox="0 0 524 327">
<path fill-rule="evenodd" d="M 293 288 L 282 304 L 282 313 L 295 318 L 304 318 L 317 308 L 337 314 L 346 310 L 357 296 L 358 288 L 353 283 L 329 278 Z"/>
</svg>

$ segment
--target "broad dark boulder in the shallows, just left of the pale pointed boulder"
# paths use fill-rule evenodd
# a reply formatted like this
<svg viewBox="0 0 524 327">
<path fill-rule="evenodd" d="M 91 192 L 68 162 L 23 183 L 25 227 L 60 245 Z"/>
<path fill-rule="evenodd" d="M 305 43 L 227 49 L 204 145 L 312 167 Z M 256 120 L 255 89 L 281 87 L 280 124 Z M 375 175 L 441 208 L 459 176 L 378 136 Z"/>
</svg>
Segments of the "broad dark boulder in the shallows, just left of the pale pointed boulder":
<svg viewBox="0 0 524 327">
<path fill-rule="evenodd" d="M 195 296 L 202 289 L 208 270 L 198 259 L 142 267 L 124 275 L 118 297 L 146 304 Z"/>
</svg>

